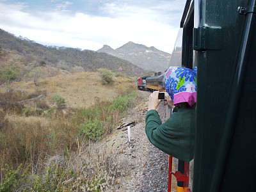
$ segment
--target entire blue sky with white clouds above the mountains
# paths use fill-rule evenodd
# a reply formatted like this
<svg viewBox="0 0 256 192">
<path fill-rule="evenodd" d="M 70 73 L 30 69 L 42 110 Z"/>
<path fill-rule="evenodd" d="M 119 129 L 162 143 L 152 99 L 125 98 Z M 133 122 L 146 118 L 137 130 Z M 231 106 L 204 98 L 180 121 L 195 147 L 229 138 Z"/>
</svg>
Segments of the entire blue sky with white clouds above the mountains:
<svg viewBox="0 0 256 192">
<path fill-rule="evenodd" d="M 42 45 L 172 53 L 186 0 L 0 0 L 0 28 Z"/>
</svg>

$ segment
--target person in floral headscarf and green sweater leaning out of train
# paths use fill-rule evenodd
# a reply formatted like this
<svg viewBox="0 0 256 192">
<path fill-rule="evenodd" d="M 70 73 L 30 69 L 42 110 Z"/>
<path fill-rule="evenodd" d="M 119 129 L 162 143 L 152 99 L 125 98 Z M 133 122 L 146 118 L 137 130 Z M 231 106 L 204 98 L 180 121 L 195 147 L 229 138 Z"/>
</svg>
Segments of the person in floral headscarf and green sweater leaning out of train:
<svg viewBox="0 0 256 192">
<path fill-rule="evenodd" d="M 189 163 L 194 156 L 196 68 L 170 67 L 165 76 L 166 102 L 173 113 L 162 124 L 156 109 L 159 91 L 150 94 L 145 131 L 157 148 Z"/>
</svg>

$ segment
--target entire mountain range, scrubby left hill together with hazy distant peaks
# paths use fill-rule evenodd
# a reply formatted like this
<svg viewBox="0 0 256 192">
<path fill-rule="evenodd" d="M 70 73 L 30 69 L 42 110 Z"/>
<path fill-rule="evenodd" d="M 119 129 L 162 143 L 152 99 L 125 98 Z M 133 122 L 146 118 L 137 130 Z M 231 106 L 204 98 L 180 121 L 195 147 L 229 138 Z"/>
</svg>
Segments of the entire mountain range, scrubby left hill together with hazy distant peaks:
<svg viewBox="0 0 256 192">
<path fill-rule="evenodd" d="M 115 50 L 104 45 L 98 51 L 82 51 L 77 48 L 41 45 L 0 29 L 0 72 L 3 68 L 15 67 L 19 79 L 33 68 L 42 66 L 67 72 L 94 72 L 98 68 L 108 68 L 125 76 L 144 76 L 152 74 L 150 71 L 166 70 L 170 58 L 171 54 L 167 52 L 133 42 Z"/>
</svg>

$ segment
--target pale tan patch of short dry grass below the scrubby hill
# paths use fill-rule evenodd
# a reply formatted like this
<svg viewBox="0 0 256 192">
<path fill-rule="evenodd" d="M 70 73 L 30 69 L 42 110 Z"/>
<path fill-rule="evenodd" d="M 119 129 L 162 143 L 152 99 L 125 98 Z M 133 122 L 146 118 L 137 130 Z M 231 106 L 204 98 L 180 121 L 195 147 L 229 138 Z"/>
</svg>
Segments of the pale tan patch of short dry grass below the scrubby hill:
<svg viewBox="0 0 256 192">
<path fill-rule="evenodd" d="M 38 92 L 45 90 L 46 100 L 50 102 L 51 96 L 56 94 L 65 99 L 67 108 L 88 108 L 99 101 L 111 101 L 120 93 L 126 92 L 131 86 L 131 79 L 116 77 L 115 83 L 102 85 L 97 73 L 66 74 L 47 79 L 39 79 L 39 86 L 33 81 L 15 82 L 8 86 L 12 90 L 26 90 L 26 92 Z M 5 92 L 5 86 L 1 86 L 0 92 Z"/>
</svg>

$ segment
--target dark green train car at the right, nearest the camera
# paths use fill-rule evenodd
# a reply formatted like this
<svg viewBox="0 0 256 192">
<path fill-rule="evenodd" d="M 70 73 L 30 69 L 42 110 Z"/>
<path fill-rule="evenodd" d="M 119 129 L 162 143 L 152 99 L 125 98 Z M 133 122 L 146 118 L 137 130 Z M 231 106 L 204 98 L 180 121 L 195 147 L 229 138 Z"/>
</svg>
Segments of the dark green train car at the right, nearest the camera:
<svg viewBox="0 0 256 192">
<path fill-rule="evenodd" d="M 188 0 L 171 66 L 197 67 L 193 192 L 254 191 L 255 0 Z"/>
</svg>

